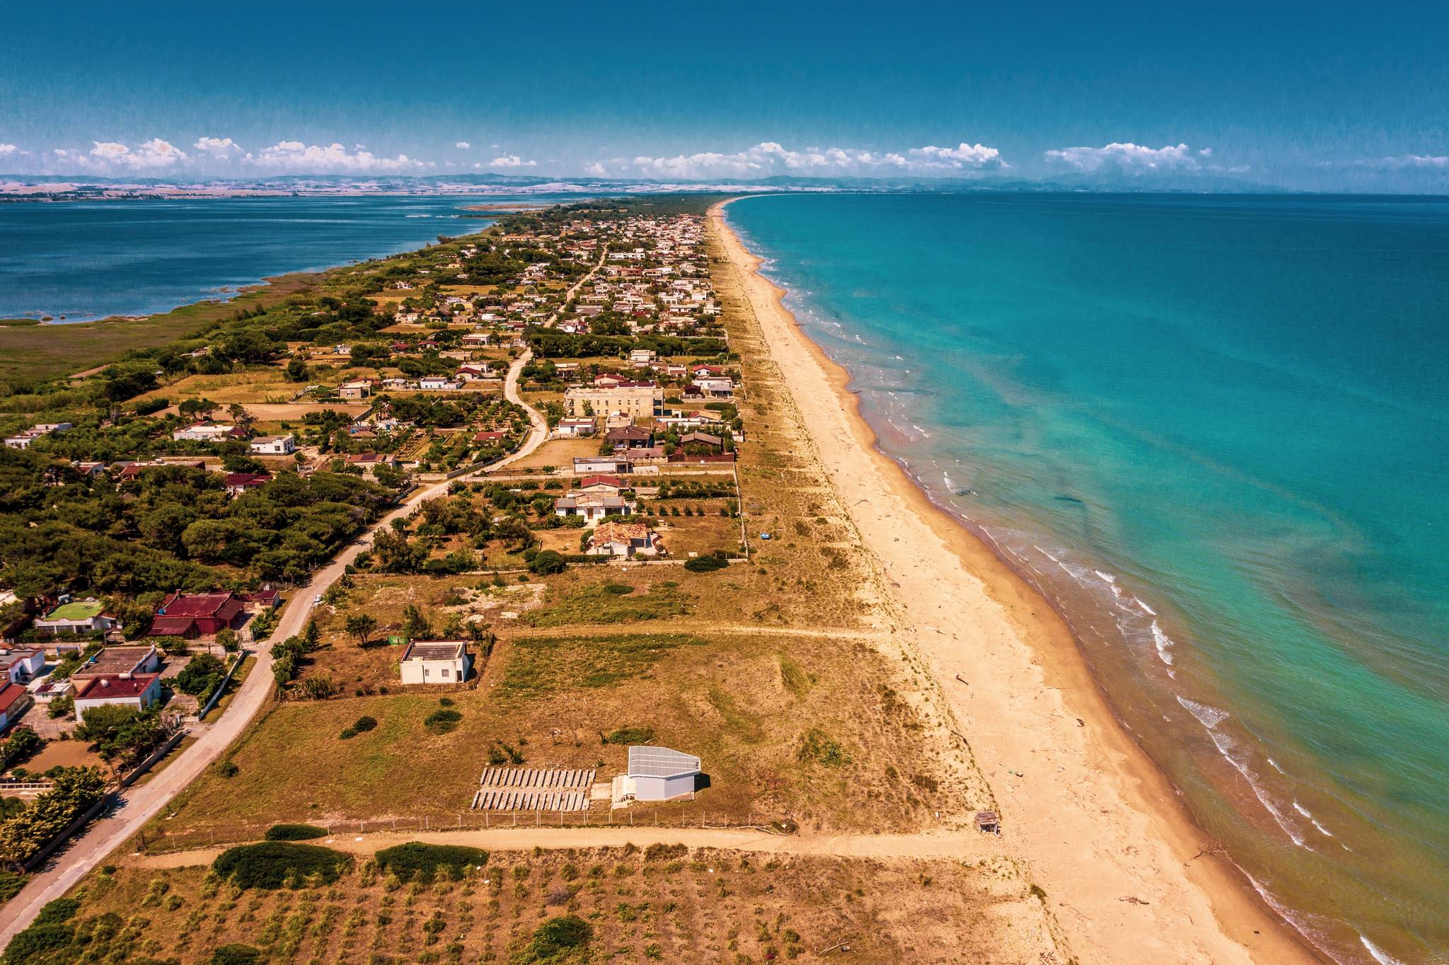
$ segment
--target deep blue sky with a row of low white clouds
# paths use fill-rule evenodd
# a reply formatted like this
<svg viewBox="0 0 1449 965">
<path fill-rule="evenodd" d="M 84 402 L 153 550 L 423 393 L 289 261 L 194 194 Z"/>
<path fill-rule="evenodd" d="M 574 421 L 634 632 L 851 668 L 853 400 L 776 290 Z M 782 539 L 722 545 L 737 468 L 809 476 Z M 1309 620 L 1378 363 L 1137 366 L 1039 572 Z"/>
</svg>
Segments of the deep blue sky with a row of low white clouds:
<svg viewBox="0 0 1449 965">
<path fill-rule="evenodd" d="M 1449 191 L 1445 3 L 12 4 L 6 33 L 0 172 Z"/>
</svg>

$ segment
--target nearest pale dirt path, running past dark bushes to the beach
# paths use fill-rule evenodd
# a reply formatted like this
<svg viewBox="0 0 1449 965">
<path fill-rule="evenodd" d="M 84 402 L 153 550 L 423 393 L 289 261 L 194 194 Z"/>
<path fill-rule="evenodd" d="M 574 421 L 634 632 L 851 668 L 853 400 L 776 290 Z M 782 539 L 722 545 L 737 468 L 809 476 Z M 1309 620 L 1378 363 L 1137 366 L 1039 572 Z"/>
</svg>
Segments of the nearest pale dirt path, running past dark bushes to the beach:
<svg viewBox="0 0 1449 965">
<path fill-rule="evenodd" d="M 384 832 L 380 835 L 335 835 L 317 839 L 354 855 L 372 855 L 384 848 L 410 840 L 430 845 L 467 845 L 497 851 L 530 851 L 533 848 L 623 848 L 635 845 L 685 845 L 687 848 L 717 848 L 722 851 L 751 851 L 777 855 L 830 855 L 836 858 L 874 859 L 946 859 L 981 861 L 1010 856 L 1001 839 L 991 835 L 930 833 L 930 835 L 775 835 L 748 827 L 494 827 L 464 832 Z M 126 859 L 136 868 L 190 868 L 209 865 L 226 848 L 199 848 L 161 855 L 135 855 Z"/>
</svg>

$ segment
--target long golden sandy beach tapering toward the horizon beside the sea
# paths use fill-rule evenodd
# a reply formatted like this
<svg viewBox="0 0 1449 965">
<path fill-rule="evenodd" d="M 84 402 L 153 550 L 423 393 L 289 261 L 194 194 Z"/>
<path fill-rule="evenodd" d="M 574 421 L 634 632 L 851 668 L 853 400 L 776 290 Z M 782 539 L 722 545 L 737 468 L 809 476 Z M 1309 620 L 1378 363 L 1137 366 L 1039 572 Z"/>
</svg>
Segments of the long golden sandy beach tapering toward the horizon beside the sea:
<svg viewBox="0 0 1449 965">
<path fill-rule="evenodd" d="M 1316 962 L 1210 845 L 1113 717 L 1065 622 L 882 455 L 848 374 L 796 325 L 784 291 L 710 229 L 746 293 L 810 445 L 1000 801 L 1006 848 L 1046 893 L 1082 962 Z M 827 458 L 819 458 L 827 456 Z M 968 682 L 962 682 L 968 681 Z"/>
</svg>

